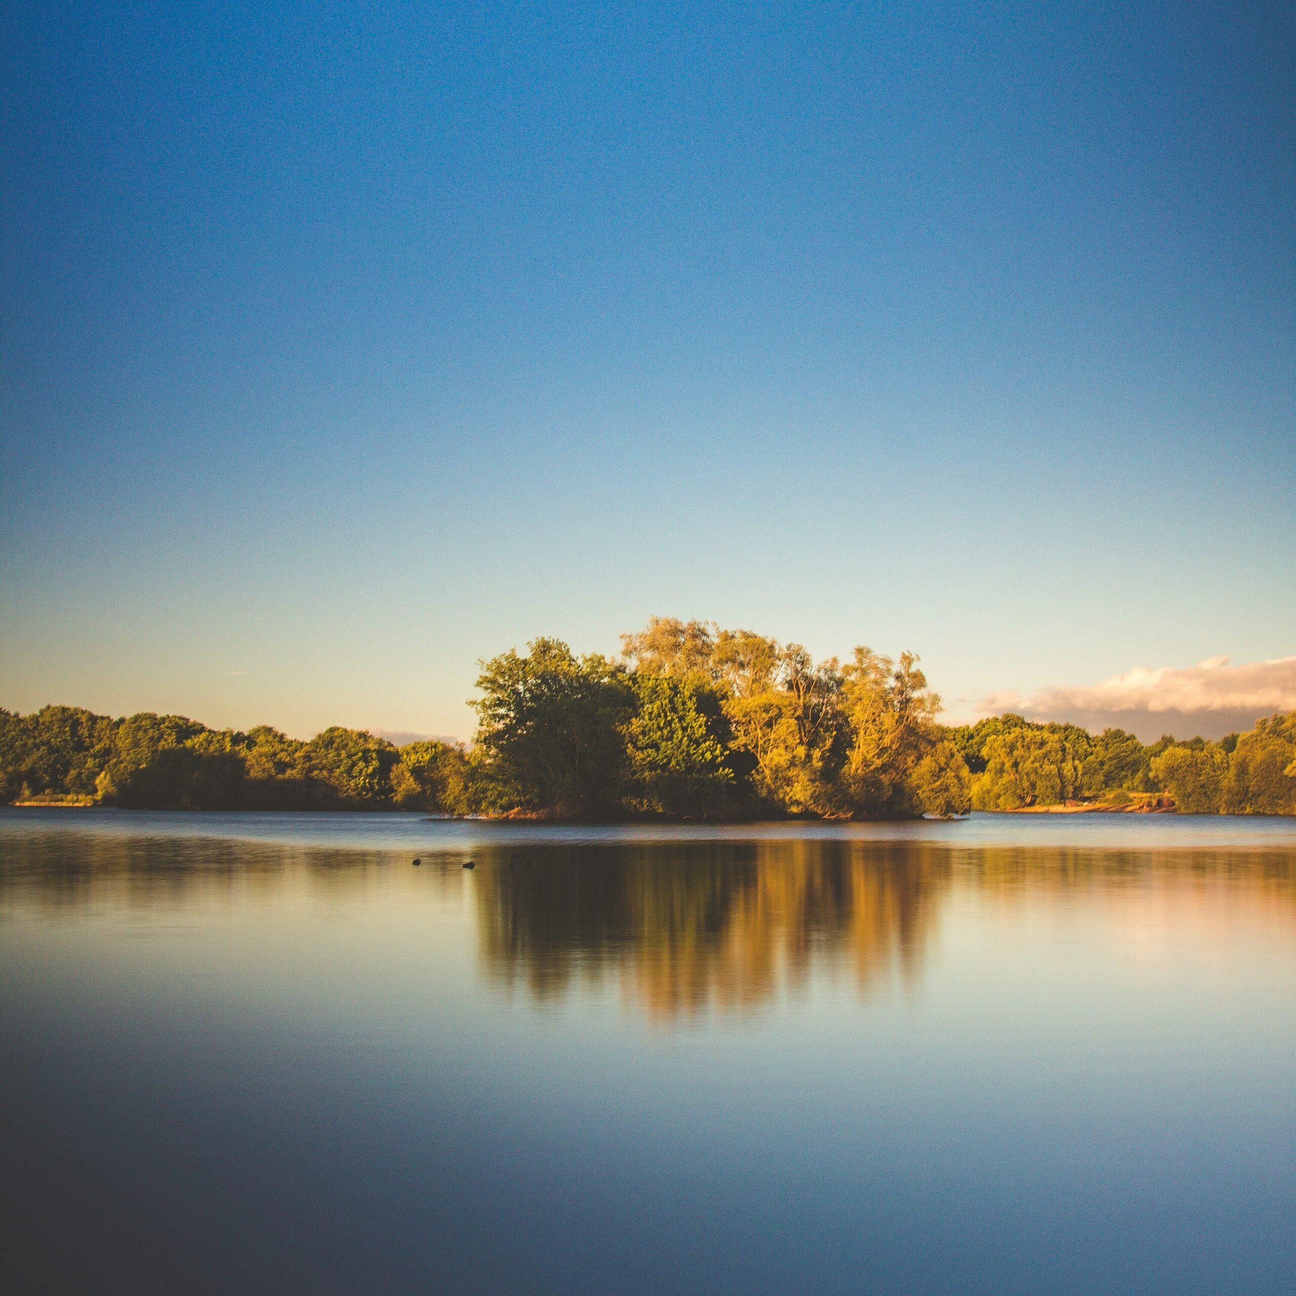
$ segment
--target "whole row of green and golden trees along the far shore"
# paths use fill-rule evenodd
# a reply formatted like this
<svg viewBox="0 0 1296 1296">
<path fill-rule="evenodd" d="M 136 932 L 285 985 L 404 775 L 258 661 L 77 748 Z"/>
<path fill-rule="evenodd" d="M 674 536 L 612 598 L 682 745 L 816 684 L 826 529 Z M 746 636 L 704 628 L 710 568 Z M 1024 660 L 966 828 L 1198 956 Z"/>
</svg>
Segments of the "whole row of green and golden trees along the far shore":
<svg viewBox="0 0 1296 1296">
<path fill-rule="evenodd" d="M 482 662 L 470 745 L 330 727 L 0 709 L 0 798 L 140 809 L 399 809 L 538 818 L 910 818 L 1166 793 L 1185 813 L 1296 813 L 1296 713 L 1220 743 L 1001 715 L 937 722 L 918 657 L 654 617 L 617 658 L 535 639 Z"/>
</svg>

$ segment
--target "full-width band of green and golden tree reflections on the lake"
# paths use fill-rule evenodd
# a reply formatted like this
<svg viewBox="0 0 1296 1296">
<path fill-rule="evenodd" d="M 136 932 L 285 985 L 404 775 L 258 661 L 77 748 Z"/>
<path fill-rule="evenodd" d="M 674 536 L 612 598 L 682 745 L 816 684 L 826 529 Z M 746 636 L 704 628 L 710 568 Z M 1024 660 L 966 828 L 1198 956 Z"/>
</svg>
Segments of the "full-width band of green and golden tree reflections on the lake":
<svg viewBox="0 0 1296 1296">
<path fill-rule="evenodd" d="M 481 972 L 553 1002 L 619 988 L 654 1020 L 741 1013 L 815 972 L 861 995 L 919 982 L 954 897 L 1016 920 L 1080 912 L 1135 960 L 1296 940 L 1296 850 L 951 848 L 823 840 L 491 845 L 410 858 L 222 839 L 8 839 L 0 911 L 60 916 L 469 906 Z"/>
</svg>

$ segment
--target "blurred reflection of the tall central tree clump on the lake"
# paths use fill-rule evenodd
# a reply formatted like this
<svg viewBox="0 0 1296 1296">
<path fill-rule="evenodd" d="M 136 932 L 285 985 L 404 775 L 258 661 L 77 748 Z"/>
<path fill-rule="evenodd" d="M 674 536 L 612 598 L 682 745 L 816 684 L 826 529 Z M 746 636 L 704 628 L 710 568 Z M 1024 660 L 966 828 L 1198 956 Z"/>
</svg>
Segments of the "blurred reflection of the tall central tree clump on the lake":
<svg viewBox="0 0 1296 1296">
<path fill-rule="evenodd" d="M 533 850 L 482 872 L 481 950 L 538 998 L 614 975 L 658 1017 L 758 1006 L 816 963 L 867 990 L 918 975 L 950 876 L 947 851 L 839 842 Z"/>
</svg>

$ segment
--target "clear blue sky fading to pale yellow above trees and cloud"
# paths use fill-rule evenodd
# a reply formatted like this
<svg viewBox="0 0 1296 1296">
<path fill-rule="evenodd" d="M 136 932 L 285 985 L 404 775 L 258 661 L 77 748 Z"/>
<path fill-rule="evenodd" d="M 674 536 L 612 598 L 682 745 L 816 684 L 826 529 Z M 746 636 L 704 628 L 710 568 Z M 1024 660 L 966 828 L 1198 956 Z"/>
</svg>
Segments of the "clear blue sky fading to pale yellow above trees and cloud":
<svg viewBox="0 0 1296 1296">
<path fill-rule="evenodd" d="M 649 614 L 1296 653 L 1282 4 L 4 6 L 0 705 L 467 736 Z"/>
</svg>

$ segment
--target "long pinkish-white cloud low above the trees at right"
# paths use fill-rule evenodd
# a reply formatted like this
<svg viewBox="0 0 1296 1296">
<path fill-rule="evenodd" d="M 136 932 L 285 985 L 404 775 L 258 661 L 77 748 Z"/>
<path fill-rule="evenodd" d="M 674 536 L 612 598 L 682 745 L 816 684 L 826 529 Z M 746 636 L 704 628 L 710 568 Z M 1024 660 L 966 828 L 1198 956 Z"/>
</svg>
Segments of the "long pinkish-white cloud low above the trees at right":
<svg viewBox="0 0 1296 1296">
<path fill-rule="evenodd" d="M 1028 699 L 991 693 L 977 708 L 982 715 L 1017 712 L 1029 719 L 1070 721 L 1087 728 L 1126 728 L 1144 741 L 1168 732 L 1221 737 L 1251 728 L 1261 715 L 1293 709 L 1296 657 L 1238 666 L 1227 657 L 1182 669 L 1135 666 L 1087 688 L 1045 688 Z"/>
</svg>

